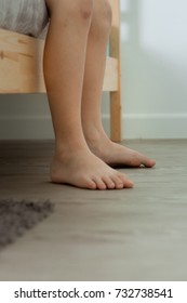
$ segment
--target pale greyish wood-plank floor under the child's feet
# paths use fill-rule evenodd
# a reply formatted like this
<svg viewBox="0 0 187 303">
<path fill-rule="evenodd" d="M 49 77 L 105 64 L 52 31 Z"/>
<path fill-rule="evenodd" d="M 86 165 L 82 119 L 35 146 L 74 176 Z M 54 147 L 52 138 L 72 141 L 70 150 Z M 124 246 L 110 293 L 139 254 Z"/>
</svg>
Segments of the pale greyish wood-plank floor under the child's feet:
<svg viewBox="0 0 187 303">
<path fill-rule="evenodd" d="M 187 141 L 132 141 L 155 169 L 122 169 L 134 189 L 49 182 L 53 144 L 0 143 L 0 197 L 55 212 L 0 253 L 0 280 L 187 280 Z"/>
</svg>

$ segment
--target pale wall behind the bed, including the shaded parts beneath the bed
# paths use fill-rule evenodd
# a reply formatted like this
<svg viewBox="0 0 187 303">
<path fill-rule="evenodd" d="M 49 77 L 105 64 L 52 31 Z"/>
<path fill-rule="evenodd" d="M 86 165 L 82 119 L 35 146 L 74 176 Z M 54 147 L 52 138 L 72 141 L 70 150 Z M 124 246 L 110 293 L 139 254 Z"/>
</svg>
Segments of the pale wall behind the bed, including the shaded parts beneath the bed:
<svg viewBox="0 0 187 303">
<path fill-rule="evenodd" d="M 187 137 L 187 1 L 121 0 L 124 137 Z M 104 95 L 108 130 L 108 100 Z M 44 95 L 0 95 L 0 139 L 50 139 Z"/>
</svg>

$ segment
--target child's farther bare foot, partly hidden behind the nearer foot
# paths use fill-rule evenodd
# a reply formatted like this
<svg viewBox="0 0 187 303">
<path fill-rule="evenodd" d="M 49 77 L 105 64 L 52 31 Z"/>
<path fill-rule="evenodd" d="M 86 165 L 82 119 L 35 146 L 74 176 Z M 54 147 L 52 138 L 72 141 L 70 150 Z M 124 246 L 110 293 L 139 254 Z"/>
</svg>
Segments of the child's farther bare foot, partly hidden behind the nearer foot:
<svg viewBox="0 0 187 303">
<path fill-rule="evenodd" d="M 152 168 L 156 161 L 120 144 L 113 143 L 106 135 L 86 140 L 92 153 L 109 166 L 126 166 Z"/>
</svg>

